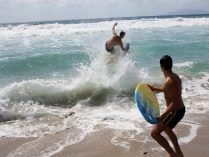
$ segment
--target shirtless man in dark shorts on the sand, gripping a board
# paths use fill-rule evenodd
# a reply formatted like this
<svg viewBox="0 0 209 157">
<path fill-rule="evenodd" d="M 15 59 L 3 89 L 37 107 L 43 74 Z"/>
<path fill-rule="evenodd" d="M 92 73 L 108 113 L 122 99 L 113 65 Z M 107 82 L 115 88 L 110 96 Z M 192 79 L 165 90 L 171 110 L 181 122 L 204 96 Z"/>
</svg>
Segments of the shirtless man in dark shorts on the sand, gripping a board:
<svg viewBox="0 0 209 157">
<path fill-rule="evenodd" d="M 160 59 L 160 67 L 165 76 L 163 87 L 156 88 L 149 85 L 152 91 L 164 92 L 167 106 L 166 111 L 157 117 L 159 123 L 154 126 L 151 136 L 168 152 L 169 157 L 184 157 L 178 139 L 172 130 L 185 114 L 185 106 L 181 97 L 182 83 L 179 76 L 172 72 L 172 62 L 172 58 L 168 55 Z M 168 135 L 174 149 L 161 135 L 163 131 Z"/>
</svg>

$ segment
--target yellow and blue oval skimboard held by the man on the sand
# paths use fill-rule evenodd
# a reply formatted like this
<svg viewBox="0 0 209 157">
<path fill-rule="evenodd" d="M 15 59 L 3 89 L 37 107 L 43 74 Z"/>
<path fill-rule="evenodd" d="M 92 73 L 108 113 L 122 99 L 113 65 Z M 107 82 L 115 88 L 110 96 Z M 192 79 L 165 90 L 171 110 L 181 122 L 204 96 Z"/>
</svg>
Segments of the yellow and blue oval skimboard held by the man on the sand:
<svg viewBox="0 0 209 157">
<path fill-rule="evenodd" d="M 158 122 L 156 117 L 160 115 L 160 107 L 156 95 L 147 84 L 137 85 L 134 100 L 144 119 L 151 124 L 156 124 Z"/>
</svg>

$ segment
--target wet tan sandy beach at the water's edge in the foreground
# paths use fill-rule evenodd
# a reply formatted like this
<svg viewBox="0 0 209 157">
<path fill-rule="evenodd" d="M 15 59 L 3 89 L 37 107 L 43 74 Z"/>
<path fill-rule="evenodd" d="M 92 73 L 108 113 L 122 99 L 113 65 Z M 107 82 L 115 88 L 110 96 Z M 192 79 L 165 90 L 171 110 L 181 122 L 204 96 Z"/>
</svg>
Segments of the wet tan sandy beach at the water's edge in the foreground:
<svg viewBox="0 0 209 157">
<path fill-rule="evenodd" d="M 206 114 L 205 114 L 206 115 Z M 207 157 L 209 153 L 209 136 L 208 129 L 209 124 L 207 122 L 208 116 L 186 116 L 186 120 L 178 125 L 175 129 L 177 136 L 180 138 L 180 143 L 182 150 L 185 154 L 185 157 Z M 190 119 L 191 122 L 198 124 L 199 127 L 197 130 L 193 128 L 191 130 L 190 127 L 184 125 L 184 122 Z M 151 127 L 150 127 L 151 129 Z M 68 130 L 69 131 L 69 130 Z M 135 139 L 129 140 L 129 144 L 125 141 L 125 135 L 121 136 L 121 140 L 123 143 L 118 143 L 114 141 L 115 133 L 117 130 L 113 129 L 103 129 L 100 131 L 96 131 L 87 135 L 81 142 L 76 144 L 72 144 L 64 147 L 63 149 L 57 151 L 56 153 L 50 155 L 53 157 L 164 157 L 166 156 L 166 152 L 160 148 L 160 146 L 148 135 L 148 139 L 146 142 L 140 141 L 143 134 L 142 133 Z M 67 133 L 67 132 L 66 132 Z M 57 133 L 59 134 L 59 133 Z M 45 135 L 50 138 L 50 136 L 55 135 Z M 46 138 L 46 139 L 47 139 Z M 191 139 L 192 138 L 192 139 Z M 44 147 L 44 143 L 40 143 L 39 146 L 34 145 L 31 147 L 31 144 L 34 141 L 39 140 L 36 138 L 12 138 L 12 137 L 1 137 L 0 140 L 0 156 L 34 156 L 35 152 L 41 151 L 42 145 Z M 186 143 L 189 140 L 188 143 Z M 47 141 L 46 141 L 47 143 Z M 124 144 L 124 147 L 122 144 Z M 28 145 L 28 148 L 27 148 Z M 30 149 L 29 149 L 30 147 Z M 29 149 L 24 153 L 20 153 L 20 150 Z M 37 150 L 40 149 L 40 150 Z M 19 153 L 14 153 L 14 152 Z M 27 152 L 27 153 L 26 153 Z"/>
</svg>

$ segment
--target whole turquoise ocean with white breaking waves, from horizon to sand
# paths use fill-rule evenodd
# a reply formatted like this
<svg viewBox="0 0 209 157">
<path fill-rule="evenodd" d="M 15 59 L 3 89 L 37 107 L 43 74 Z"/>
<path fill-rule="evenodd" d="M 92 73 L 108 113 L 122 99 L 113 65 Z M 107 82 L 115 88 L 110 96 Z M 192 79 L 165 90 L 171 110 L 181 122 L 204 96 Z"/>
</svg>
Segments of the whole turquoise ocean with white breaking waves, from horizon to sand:
<svg viewBox="0 0 209 157">
<path fill-rule="evenodd" d="M 106 64 L 104 43 L 115 22 L 130 50 Z M 209 15 L 1 24 L 0 137 L 35 137 L 37 144 L 54 135 L 37 152 L 51 156 L 110 128 L 117 130 L 112 144 L 129 149 L 129 140 L 151 126 L 133 102 L 134 89 L 141 82 L 163 83 L 163 55 L 173 58 L 182 79 L 186 115 L 208 112 Z M 163 111 L 163 95 L 157 97 Z M 125 142 L 121 132 L 127 133 Z"/>
</svg>

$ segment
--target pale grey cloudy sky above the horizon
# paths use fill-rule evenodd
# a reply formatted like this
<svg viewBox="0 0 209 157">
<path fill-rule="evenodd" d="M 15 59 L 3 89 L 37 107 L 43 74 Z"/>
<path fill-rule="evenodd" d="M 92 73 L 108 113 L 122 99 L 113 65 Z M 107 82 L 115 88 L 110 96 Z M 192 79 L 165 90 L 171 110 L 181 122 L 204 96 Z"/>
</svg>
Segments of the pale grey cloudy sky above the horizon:
<svg viewBox="0 0 209 157">
<path fill-rule="evenodd" d="M 205 10 L 209 0 L 0 0 L 0 23 L 166 15 Z"/>
</svg>

